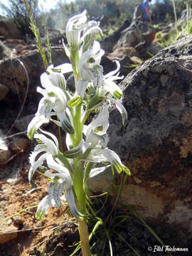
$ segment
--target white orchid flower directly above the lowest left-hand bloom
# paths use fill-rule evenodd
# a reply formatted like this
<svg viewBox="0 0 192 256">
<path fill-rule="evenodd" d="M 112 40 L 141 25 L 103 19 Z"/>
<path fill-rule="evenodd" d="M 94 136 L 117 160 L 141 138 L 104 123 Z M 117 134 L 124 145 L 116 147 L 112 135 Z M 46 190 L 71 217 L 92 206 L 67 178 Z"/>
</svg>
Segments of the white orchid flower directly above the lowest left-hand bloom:
<svg viewBox="0 0 192 256">
<path fill-rule="evenodd" d="M 38 139 L 41 144 L 38 144 L 34 151 L 29 156 L 29 162 L 31 164 L 31 168 L 28 171 L 28 180 L 30 182 L 33 182 L 33 174 L 38 169 L 39 166 L 43 164 L 43 161 L 47 160 L 50 156 L 55 156 L 58 154 L 58 139 L 55 137 L 55 135 L 51 134 L 50 132 L 45 132 L 41 130 L 44 134 L 35 134 L 34 138 Z M 38 154 L 45 152 L 44 154 L 41 154 L 41 156 L 37 158 Z"/>
</svg>

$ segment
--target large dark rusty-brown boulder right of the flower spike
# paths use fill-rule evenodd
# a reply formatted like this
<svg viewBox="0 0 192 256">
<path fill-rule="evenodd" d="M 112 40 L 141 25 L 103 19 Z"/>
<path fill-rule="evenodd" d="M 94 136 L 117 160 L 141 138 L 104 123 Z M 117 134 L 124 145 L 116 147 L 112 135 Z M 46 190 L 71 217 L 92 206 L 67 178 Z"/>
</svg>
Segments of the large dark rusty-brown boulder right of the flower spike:
<svg viewBox="0 0 192 256">
<path fill-rule="evenodd" d="M 121 203 L 134 206 L 146 220 L 169 223 L 192 233 L 192 38 L 161 50 L 121 83 L 129 117 L 121 127 L 110 114 L 109 148 L 132 176 Z M 92 191 L 113 194 L 110 172 L 92 178 Z"/>
</svg>

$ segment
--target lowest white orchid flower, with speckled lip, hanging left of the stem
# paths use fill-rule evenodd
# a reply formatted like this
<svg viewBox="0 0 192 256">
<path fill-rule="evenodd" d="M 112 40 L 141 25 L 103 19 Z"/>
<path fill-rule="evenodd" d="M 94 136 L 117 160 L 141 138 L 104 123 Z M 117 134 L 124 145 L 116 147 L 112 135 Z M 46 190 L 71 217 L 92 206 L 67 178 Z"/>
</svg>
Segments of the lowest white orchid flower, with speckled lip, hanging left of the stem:
<svg viewBox="0 0 192 256">
<path fill-rule="evenodd" d="M 70 206 L 71 213 L 78 219 L 82 218 L 83 215 L 78 211 L 75 204 L 73 183 L 68 169 L 56 163 L 52 156 L 47 159 L 47 164 L 50 169 L 57 171 L 57 173 L 45 172 L 45 175 L 53 181 L 48 184 L 48 196 L 45 196 L 38 205 L 36 218 L 42 219 L 48 213 L 50 206 L 60 207 L 60 199 L 62 198 L 63 192 L 65 192 L 65 199 Z"/>
</svg>

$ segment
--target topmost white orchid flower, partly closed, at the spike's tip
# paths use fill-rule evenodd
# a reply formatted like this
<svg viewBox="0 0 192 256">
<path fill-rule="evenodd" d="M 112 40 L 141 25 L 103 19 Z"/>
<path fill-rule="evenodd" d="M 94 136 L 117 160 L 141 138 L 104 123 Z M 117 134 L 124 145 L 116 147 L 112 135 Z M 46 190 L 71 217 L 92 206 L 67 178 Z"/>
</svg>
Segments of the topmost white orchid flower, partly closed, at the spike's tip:
<svg viewBox="0 0 192 256">
<path fill-rule="evenodd" d="M 69 19 L 66 26 L 66 37 L 70 48 L 78 48 L 80 46 L 80 35 L 87 21 L 86 10 L 81 14 L 75 15 Z"/>
</svg>

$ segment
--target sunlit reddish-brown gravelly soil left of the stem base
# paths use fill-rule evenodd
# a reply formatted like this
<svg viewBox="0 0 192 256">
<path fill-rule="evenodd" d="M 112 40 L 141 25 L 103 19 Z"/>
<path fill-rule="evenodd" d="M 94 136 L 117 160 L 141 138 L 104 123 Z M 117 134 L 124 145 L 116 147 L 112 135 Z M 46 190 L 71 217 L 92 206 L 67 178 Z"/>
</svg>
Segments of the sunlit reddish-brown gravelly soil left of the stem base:
<svg viewBox="0 0 192 256">
<path fill-rule="evenodd" d="M 16 227 L 16 238 L 0 245 L 1 255 L 42 255 L 43 250 L 48 253 L 45 255 L 70 255 L 79 240 L 75 220 L 66 211 L 65 202 L 61 208 L 50 208 L 43 221 L 35 219 L 36 206 L 46 195 L 47 180 L 37 174 L 37 188 L 31 188 L 27 168 L 15 181 L 0 182 L 1 227 Z"/>
</svg>

